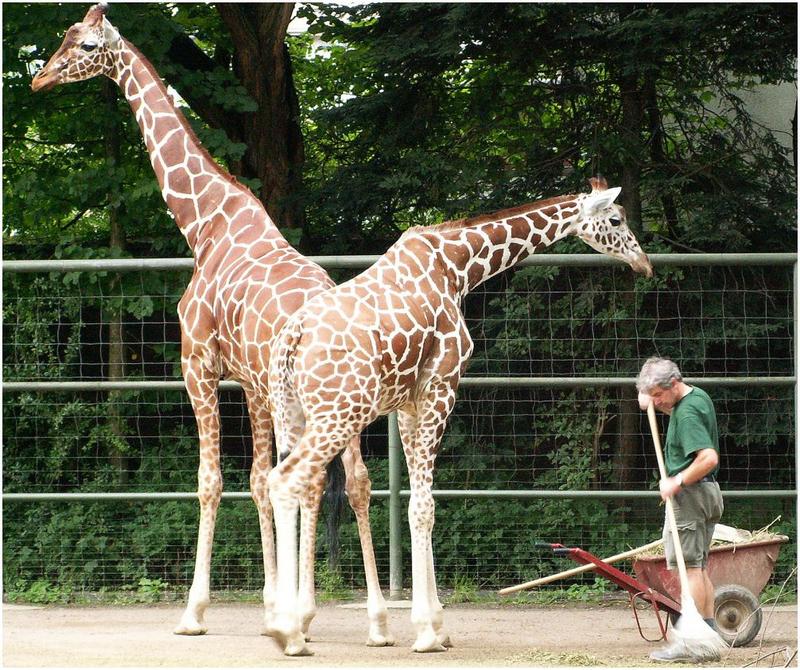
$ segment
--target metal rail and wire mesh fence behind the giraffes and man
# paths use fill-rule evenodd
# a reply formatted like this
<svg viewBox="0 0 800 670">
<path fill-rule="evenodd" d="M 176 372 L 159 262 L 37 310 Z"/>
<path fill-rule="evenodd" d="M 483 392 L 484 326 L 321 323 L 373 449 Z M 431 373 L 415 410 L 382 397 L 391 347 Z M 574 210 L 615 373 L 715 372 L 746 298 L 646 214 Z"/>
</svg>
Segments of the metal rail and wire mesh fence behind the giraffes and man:
<svg viewBox="0 0 800 670">
<path fill-rule="evenodd" d="M 342 279 L 375 258 L 315 260 Z M 657 494 L 641 486 L 654 471 L 646 426 L 627 462 L 632 474 L 620 472 L 614 453 L 623 438 L 621 402 L 635 395 L 635 370 L 654 352 L 681 361 L 690 383 L 715 397 L 723 435 L 740 436 L 743 446 L 723 469 L 725 521 L 756 529 L 781 517 L 776 528 L 794 540 L 796 255 L 651 260 L 656 280 L 642 283 L 603 256 L 534 256 L 466 301 L 476 353 L 437 460 L 434 493 L 437 566 L 450 582 L 500 586 L 546 572 L 552 559 L 531 555 L 535 539 L 582 545 L 602 537 L 618 548 L 658 534 Z M 4 559 L 6 591 L 17 588 L 15 578 L 35 575 L 87 589 L 137 579 L 180 586 L 190 578 L 195 494 L 176 482 L 188 481 L 197 456 L 177 377 L 174 306 L 191 263 L 4 262 L 4 545 L 12 548 Z M 109 381 L 107 320 L 119 314 L 129 336 L 126 377 Z M 93 400 L 95 411 L 87 409 Z M 237 384 L 223 382 L 221 404 L 228 490 L 214 579 L 255 590 L 258 526 L 242 502 L 249 498 L 249 430 Z M 587 417 L 600 423 L 588 425 Z M 146 491 L 114 479 L 108 461 L 115 441 L 124 444 L 133 486 Z M 185 446 L 178 459 L 164 447 L 176 443 Z M 375 482 L 373 517 L 387 529 L 376 537 L 376 554 L 396 594 L 408 561 L 408 491 L 393 417 L 366 432 L 363 450 Z M 105 479 L 98 476 L 103 469 Z M 626 479 L 640 485 L 609 485 Z M 69 515 L 65 506 L 72 506 Z M 64 527 L 45 541 L 34 518 Z M 89 521 L 105 536 L 82 532 Z M 122 534 L 130 544 L 115 553 Z M 358 585 L 354 524 L 343 527 L 341 542 L 340 571 Z M 137 544 L 148 547 L 146 555 L 130 549 Z M 87 563 L 108 577 L 88 579 L 78 567 Z M 789 576 L 790 563 L 784 559 L 776 580 Z"/>
</svg>

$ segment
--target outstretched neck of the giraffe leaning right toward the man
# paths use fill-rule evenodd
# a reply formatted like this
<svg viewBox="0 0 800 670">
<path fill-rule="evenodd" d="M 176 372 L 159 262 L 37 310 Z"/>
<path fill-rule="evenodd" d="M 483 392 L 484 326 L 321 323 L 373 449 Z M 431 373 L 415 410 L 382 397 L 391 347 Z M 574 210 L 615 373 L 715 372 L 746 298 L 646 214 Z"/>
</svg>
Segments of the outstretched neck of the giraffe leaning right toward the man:
<svg viewBox="0 0 800 670">
<path fill-rule="evenodd" d="M 472 219 L 435 226 L 455 290 L 466 295 L 487 279 L 571 232 L 580 206 L 574 196 L 540 200 Z"/>
</svg>

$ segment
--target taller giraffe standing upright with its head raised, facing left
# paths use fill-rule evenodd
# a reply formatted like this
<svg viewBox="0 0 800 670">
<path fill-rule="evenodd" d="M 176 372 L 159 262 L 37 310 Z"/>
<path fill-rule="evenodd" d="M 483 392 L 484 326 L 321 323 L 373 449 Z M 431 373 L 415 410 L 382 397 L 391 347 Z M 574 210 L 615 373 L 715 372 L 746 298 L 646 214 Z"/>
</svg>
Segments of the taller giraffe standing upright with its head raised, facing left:
<svg viewBox="0 0 800 670">
<path fill-rule="evenodd" d="M 60 48 L 36 74 L 33 91 L 104 75 L 130 103 L 161 193 L 194 255 L 192 279 L 178 304 L 181 367 L 195 414 L 200 464 L 200 523 L 194 577 L 176 634 L 207 631 L 211 550 L 222 493 L 217 390 L 223 377 L 244 390 L 253 436 L 250 491 L 258 507 L 264 561 L 265 634 L 275 591 L 275 544 L 267 476 L 272 469 L 272 418 L 268 402 L 271 342 L 283 322 L 306 300 L 333 286 L 326 272 L 295 251 L 261 202 L 219 167 L 177 110 L 153 66 L 94 5 L 71 26 Z M 358 522 L 367 579 L 370 632 L 367 644 L 394 643 L 378 581 L 369 527 L 370 480 L 359 438 L 343 454 L 345 487 Z M 313 558 L 315 524 L 325 475 L 309 484 L 303 508 Z M 314 564 L 302 566 L 303 630 L 315 612 Z M 310 572 L 308 572 L 310 570 Z"/>
</svg>

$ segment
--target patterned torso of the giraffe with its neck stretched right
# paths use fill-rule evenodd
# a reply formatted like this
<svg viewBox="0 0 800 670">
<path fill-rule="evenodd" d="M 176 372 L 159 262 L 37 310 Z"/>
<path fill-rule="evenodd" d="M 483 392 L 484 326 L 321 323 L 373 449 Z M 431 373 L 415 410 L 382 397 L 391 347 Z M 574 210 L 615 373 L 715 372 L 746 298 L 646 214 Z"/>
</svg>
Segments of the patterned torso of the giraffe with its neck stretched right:
<svg viewBox="0 0 800 670">
<path fill-rule="evenodd" d="M 457 384 L 472 341 L 438 263 L 418 231 L 405 233 L 371 268 L 288 319 L 271 379 L 290 379 L 315 413 L 346 406 L 359 425 L 413 403 L 433 377 Z"/>
</svg>

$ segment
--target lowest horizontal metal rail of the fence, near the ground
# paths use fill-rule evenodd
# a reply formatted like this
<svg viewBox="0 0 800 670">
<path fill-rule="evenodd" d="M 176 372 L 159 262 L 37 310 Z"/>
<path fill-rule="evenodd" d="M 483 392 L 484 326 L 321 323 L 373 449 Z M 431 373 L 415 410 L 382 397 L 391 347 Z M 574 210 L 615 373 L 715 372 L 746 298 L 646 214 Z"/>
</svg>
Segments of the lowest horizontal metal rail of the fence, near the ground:
<svg viewBox="0 0 800 670">
<path fill-rule="evenodd" d="M 401 489 L 400 496 L 409 498 L 411 491 Z M 376 489 L 372 491 L 375 499 L 389 498 L 389 489 Z M 554 491 L 550 489 L 434 489 L 433 497 L 443 500 L 458 500 L 468 498 L 501 498 L 501 499 L 614 499 L 621 498 L 658 498 L 658 491 Z M 797 491 L 793 489 L 759 489 L 748 491 L 722 491 L 725 498 L 795 498 Z M 224 491 L 223 500 L 249 500 L 249 491 Z M 130 492 L 130 493 L 4 493 L 3 502 L 91 502 L 91 501 L 122 501 L 122 502 L 152 502 L 163 500 L 196 500 L 197 493 L 188 491 L 170 492 Z"/>
</svg>

